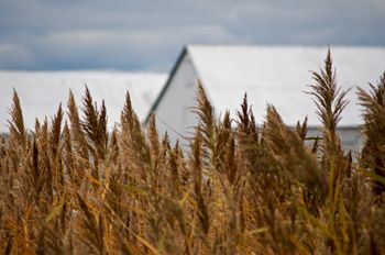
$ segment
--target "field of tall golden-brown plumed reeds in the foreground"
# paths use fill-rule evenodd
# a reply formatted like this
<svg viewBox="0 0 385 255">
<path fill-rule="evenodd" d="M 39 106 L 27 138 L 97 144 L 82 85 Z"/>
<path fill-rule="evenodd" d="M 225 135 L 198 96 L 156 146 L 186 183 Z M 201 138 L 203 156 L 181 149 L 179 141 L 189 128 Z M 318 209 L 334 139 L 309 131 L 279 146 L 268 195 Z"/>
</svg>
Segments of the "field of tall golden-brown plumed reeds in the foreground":
<svg viewBox="0 0 385 255">
<path fill-rule="evenodd" d="M 255 123 L 246 97 L 237 117 L 217 120 L 201 86 L 187 153 L 157 133 L 154 115 L 141 125 L 129 93 L 108 132 L 88 90 L 33 131 L 14 92 L 0 140 L 1 250 L 385 254 L 385 73 L 371 91 L 358 88 L 364 146 L 352 158 L 337 134 L 348 101 L 333 70 L 329 52 L 312 73 L 322 135 L 311 146 L 306 120 L 289 129 L 268 106 Z"/>
</svg>

